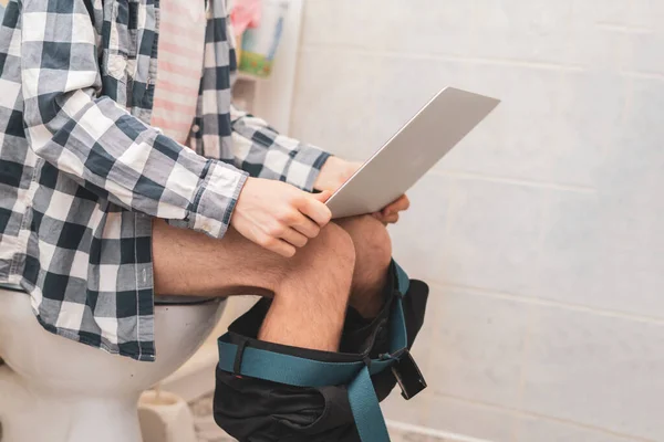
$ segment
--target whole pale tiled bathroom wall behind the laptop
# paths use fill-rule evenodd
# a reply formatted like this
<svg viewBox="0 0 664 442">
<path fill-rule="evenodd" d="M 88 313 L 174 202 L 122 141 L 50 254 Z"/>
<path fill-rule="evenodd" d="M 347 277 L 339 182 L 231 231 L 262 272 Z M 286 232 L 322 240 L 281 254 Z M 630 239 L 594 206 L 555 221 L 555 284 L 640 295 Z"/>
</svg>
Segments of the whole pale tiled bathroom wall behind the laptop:
<svg viewBox="0 0 664 442">
<path fill-rule="evenodd" d="M 664 440 L 664 2 L 307 0 L 292 134 L 364 159 L 445 85 L 504 103 L 409 193 L 429 389 L 495 442 Z M 417 149 L 419 146 L 413 146 Z"/>
</svg>

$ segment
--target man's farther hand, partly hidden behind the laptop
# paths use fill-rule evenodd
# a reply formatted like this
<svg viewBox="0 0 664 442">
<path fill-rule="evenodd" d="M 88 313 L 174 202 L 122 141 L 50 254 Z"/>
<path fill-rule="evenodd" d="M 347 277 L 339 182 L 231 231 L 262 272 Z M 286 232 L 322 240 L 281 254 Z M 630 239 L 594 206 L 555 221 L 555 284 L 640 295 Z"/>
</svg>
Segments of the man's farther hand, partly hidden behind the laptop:
<svg viewBox="0 0 664 442">
<path fill-rule="evenodd" d="M 323 165 L 321 172 L 313 183 L 313 188 L 317 190 L 334 192 L 341 185 L 351 178 L 361 166 L 361 162 L 351 162 L 338 157 L 330 157 Z M 407 210 L 409 207 L 411 201 L 408 201 L 408 197 L 403 194 L 380 212 L 372 213 L 372 215 L 385 224 L 395 223 L 398 221 L 398 212 Z"/>
</svg>

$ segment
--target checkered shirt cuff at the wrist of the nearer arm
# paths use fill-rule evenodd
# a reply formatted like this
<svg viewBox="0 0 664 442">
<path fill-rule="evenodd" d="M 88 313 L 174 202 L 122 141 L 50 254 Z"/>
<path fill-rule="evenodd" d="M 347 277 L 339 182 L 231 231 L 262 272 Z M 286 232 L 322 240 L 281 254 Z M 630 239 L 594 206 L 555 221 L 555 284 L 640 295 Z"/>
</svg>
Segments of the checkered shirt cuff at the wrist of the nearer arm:
<svg viewBox="0 0 664 442">
<path fill-rule="evenodd" d="M 208 160 L 187 227 L 212 238 L 222 238 L 249 173 L 217 160 Z"/>
</svg>

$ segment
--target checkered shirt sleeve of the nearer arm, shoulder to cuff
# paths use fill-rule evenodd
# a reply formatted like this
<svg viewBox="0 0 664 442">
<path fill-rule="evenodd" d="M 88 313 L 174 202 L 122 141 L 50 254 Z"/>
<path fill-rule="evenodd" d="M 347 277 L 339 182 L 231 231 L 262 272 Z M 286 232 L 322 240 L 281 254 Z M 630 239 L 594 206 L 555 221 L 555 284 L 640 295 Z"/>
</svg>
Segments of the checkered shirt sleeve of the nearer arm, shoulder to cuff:
<svg viewBox="0 0 664 442">
<path fill-rule="evenodd" d="M 222 236 L 247 173 L 97 97 L 95 43 L 83 2 L 23 1 L 21 85 L 32 150 L 111 202 Z"/>
</svg>

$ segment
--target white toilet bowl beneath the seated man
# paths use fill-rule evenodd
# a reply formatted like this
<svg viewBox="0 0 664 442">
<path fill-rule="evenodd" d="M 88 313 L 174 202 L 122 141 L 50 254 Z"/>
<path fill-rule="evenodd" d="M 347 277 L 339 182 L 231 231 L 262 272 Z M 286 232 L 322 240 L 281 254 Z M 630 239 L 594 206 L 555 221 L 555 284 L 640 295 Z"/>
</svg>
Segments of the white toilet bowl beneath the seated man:
<svg viewBox="0 0 664 442">
<path fill-rule="evenodd" d="M 25 293 L 0 290 L 2 442 L 141 442 L 141 392 L 198 349 L 224 306 L 156 304 L 156 361 L 139 362 L 44 330 Z"/>
</svg>

